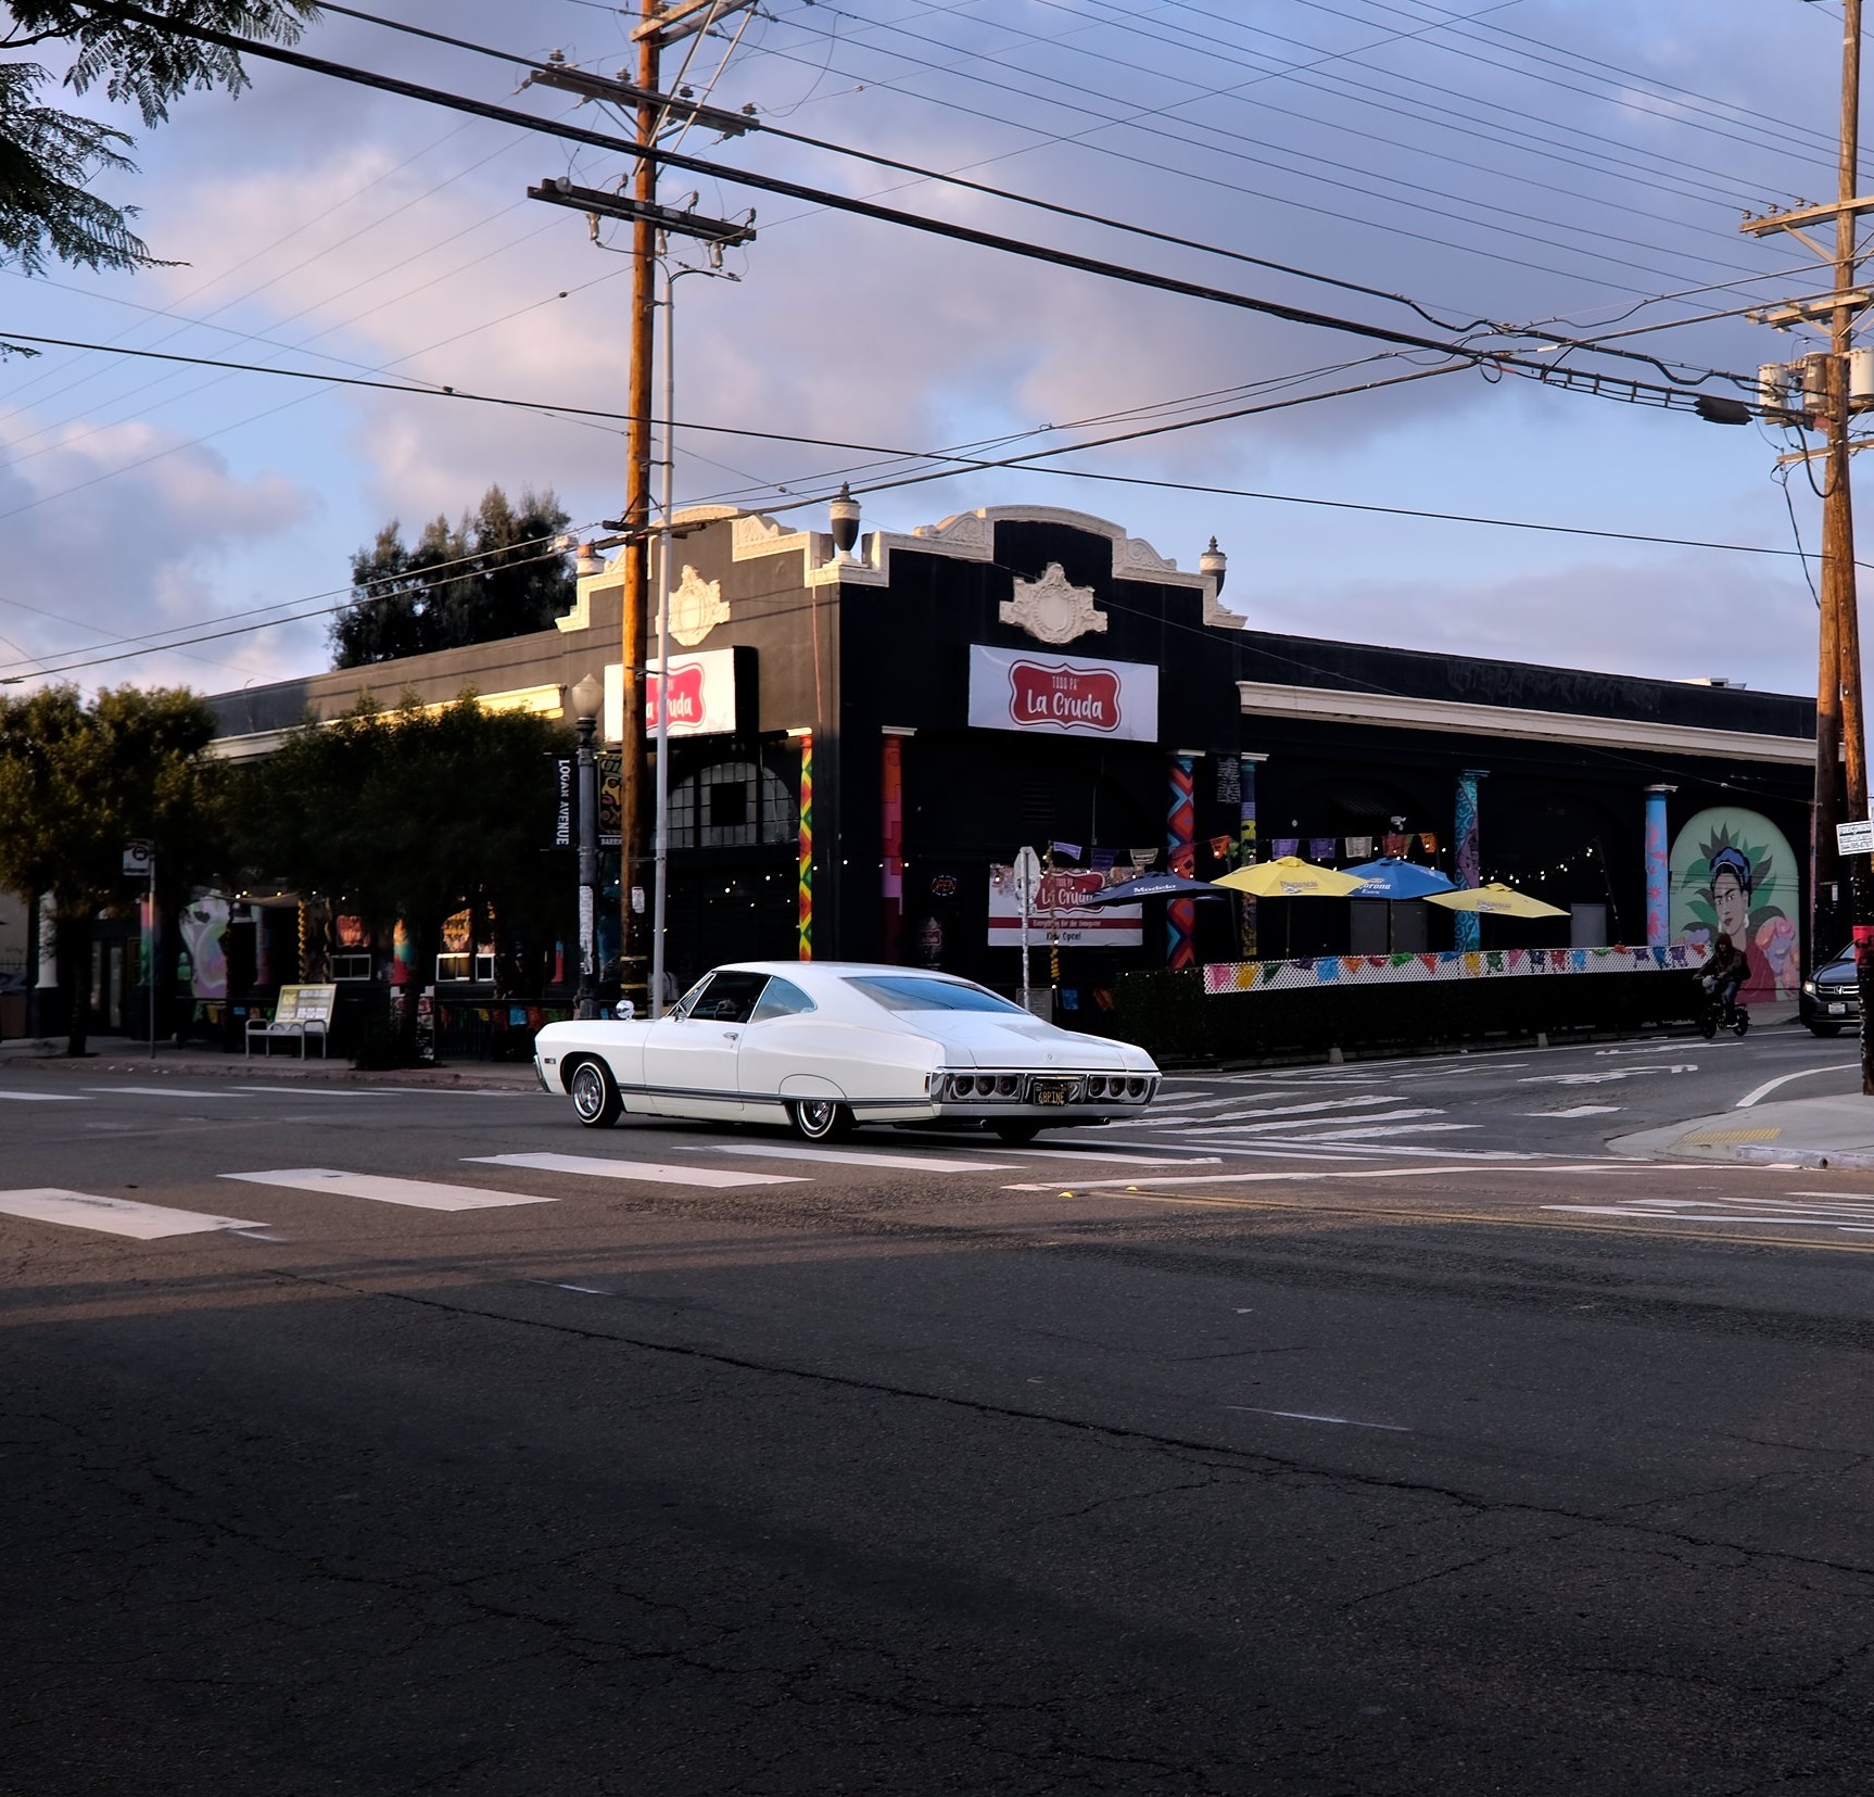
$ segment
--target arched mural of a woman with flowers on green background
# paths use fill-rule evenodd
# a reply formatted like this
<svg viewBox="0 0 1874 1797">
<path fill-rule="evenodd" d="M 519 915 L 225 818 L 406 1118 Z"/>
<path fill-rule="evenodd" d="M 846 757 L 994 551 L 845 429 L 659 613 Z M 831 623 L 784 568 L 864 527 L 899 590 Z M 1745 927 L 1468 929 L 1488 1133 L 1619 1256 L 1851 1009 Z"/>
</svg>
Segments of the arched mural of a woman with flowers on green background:
<svg viewBox="0 0 1874 1797">
<path fill-rule="evenodd" d="M 1713 806 L 1672 843 L 1672 935 L 1709 948 L 1728 935 L 1745 952 L 1747 1004 L 1793 999 L 1803 978 L 1803 914 L 1790 839 L 1760 811 Z"/>
</svg>

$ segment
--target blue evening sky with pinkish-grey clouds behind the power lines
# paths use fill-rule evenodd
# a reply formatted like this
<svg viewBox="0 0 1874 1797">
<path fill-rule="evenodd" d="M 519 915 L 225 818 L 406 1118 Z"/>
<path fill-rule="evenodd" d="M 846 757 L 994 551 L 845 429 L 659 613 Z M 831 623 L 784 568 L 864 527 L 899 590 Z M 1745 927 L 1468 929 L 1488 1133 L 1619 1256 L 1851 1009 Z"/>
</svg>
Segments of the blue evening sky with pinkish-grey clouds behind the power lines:
<svg viewBox="0 0 1874 1797">
<path fill-rule="evenodd" d="M 617 7 L 382 6 L 502 54 L 337 15 L 304 49 L 617 129 L 573 96 L 519 92 L 553 51 L 626 69 Z M 56 45 L 36 54 L 62 73 Z M 1812 347 L 1741 309 L 1822 292 L 1825 272 L 1737 227 L 1833 193 L 1838 56 L 1840 7 L 1808 0 L 765 0 L 667 51 L 665 75 L 783 131 L 1207 247 L 770 133 L 682 139 L 729 169 L 1439 343 L 1642 332 L 1621 347 L 1696 377 Z M 156 131 L 118 120 L 139 167 L 99 186 L 172 266 L 0 266 L 0 335 L 99 345 L 0 364 L 0 680 L 225 691 L 315 673 L 322 613 L 392 519 L 414 536 L 489 483 L 551 489 L 587 528 L 622 506 L 620 427 L 551 408 L 626 408 L 624 227 L 594 244 L 527 187 L 611 187 L 628 159 L 315 73 L 251 75 Z M 112 116 L 101 96 L 73 105 Z M 825 528 L 851 478 L 866 528 L 1066 506 L 1184 568 L 1214 536 L 1226 603 L 1257 628 L 1814 691 L 1816 607 L 1790 551 L 1818 547 L 1820 504 L 1801 467 L 1777 468 L 1780 431 L 1475 369 L 1321 397 L 1443 358 L 714 174 L 665 172 L 660 193 L 710 217 L 753 208 L 757 232 L 675 289 L 678 504 Z M 1569 362 L 1666 384 L 1649 362 Z M 944 472 L 924 453 L 1012 455 L 1276 399 L 1304 403 L 1038 468 Z M 795 437 L 823 442 L 774 440 Z M 176 637 L 195 641 L 150 648 Z"/>
</svg>

